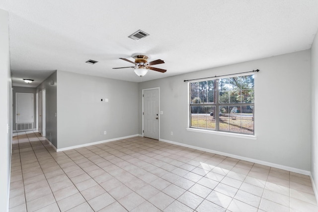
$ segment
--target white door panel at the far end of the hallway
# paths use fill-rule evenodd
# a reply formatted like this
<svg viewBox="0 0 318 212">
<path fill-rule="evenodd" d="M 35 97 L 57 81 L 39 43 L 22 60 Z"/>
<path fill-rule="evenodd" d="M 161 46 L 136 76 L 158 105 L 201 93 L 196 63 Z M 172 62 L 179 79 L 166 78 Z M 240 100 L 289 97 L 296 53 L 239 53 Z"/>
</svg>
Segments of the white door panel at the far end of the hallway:
<svg viewBox="0 0 318 212">
<path fill-rule="evenodd" d="M 33 122 L 33 93 L 15 93 L 15 123 Z"/>
</svg>

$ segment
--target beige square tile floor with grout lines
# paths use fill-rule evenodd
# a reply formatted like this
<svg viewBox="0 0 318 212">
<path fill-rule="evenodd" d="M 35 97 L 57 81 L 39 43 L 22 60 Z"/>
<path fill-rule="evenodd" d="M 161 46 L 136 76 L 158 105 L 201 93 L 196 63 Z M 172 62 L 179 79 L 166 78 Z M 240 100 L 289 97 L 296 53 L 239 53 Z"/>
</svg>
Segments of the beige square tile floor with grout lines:
<svg viewBox="0 0 318 212">
<path fill-rule="evenodd" d="M 9 212 L 318 212 L 309 176 L 157 140 L 12 148 Z"/>
</svg>

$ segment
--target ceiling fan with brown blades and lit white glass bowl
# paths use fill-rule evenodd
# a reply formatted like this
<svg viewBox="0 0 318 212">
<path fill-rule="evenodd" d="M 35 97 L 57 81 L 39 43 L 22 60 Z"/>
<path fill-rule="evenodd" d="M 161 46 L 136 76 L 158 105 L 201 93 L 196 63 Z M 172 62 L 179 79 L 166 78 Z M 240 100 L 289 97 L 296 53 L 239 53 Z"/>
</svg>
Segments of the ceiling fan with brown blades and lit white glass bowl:
<svg viewBox="0 0 318 212">
<path fill-rule="evenodd" d="M 140 53 L 134 54 L 132 57 L 135 58 L 135 62 L 130 61 L 130 60 L 125 59 L 125 58 L 119 58 L 119 59 L 127 61 L 127 62 L 132 63 L 132 64 L 135 64 L 135 66 L 120 67 L 120 68 L 113 68 L 113 69 L 134 68 L 135 69 L 135 73 L 138 76 L 144 76 L 148 72 L 149 69 L 153 70 L 153 71 L 159 71 L 161 73 L 164 73 L 166 71 L 164 69 L 158 69 L 158 68 L 155 68 L 155 67 L 151 67 L 153 65 L 164 64 L 163 60 L 159 59 L 159 60 L 155 60 L 155 61 L 152 61 L 152 62 L 148 63 L 148 61 L 147 61 L 148 56 L 146 56 L 144 54 L 140 54 Z"/>
</svg>

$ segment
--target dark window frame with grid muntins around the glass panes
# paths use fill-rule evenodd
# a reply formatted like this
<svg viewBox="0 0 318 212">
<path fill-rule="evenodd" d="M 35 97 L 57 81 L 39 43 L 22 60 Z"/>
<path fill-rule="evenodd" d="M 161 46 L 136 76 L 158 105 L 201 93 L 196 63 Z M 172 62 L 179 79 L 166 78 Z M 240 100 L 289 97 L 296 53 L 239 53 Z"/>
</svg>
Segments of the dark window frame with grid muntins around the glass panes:
<svg viewBox="0 0 318 212">
<path fill-rule="evenodd" d="M 207 131 L 207 133 L 210 133 L 210 134 L 234 134 L 235 137 L 251 137 L 251 138 L 256 138 L 255 137 L 255 121 L 254 121 L 254 117 L 255 117 L 255 97 L 254 97 L 254 100 L 253 100 L 253 103 L 219 103 L 219 98 L 220 98 L 220 87 L 219 87 L 219 82 L 220 82 L 220 79 L 224 79 L 224 78 L 233 78 L 233 77 L 239 77 L 239 76 L 248 76 L 248 75 L 253 75 L 253 78 L 255 77 L 255 74 L 252 73 L 248 73 L 248 74 L 240 74 L 240 75 L 231 75 L 231 76 L 228 76 L 228 77 L 213 77 L 213 78 L 210 78 L 210 79 L 204 79 L 204 80 L 195 80 L 195 81 L 189 81 L 188 82 L 188 131 L 199 131 L 199 132 L 203 132 L 203 131 Z M 194 82 L 202 82 L 202 81 L 211 81 L 211 80 L 215 80 L 215 83 L 214 83 L 214 90 L 213 92 L 216 94 L 214 96 L 214 99 L 215 99 L 215 103 L 191 103 L 191 83 L 194 83 Z M 240 91 L 242 90 L 247 90 L 247 89 L 240 89 Z M 249 89 L 251 90 L 251 89 Z M 254 92 L 254 96 L 255 96 L 255 81 L 254 81 L 254 84 L 253 84 L 253 88 L 252 88 L 253 92 Z M 231 90 L 230 90 L 231 91 Z M 203 127 L 194 127 L 194 126 L 191 126 L 191 106 L 205 106 L 205 107 L 208 107 L 208 106 L 211 106 L 211 107 L 215 107 L 215 129 L 211 129 L 211 128 L 203 128 Z M 253 132 L 252 134 L 250 133 L 243 133 L 243 132 L 235 132 L 235 131 L 230 131 L 230 129 L 228 131 L 225 131 L 225 130 L 220 130 L 220 107 L 222 106 L 231 106 L 231 107 L 240 107 L 240 106 L 252 106 L 253 109 L 252 109 L 252 120 L 253 120 Z M 230 111 L 229 111 L 229 115 L 230 115 Z M 240 119 L 242 120 L 242 119 Z M 240 126 L 242 127 L 242 126 Z M 241 129 L 241 128 L 240 128 Z M 237 136 L 236 136 L 237 135 Z"/>
</svg>

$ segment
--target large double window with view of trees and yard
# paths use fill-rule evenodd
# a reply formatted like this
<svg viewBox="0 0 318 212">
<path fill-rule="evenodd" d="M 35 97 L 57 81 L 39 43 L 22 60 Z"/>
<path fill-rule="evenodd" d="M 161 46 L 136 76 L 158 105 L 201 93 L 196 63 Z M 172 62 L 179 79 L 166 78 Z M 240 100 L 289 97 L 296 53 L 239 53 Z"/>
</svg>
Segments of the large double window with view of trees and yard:
<svg viewBox="0 0 318 212">
<path fill-rule="evenodd" d="M 254 135 L 254 74 L 190 82 L 190 127 Z"/>
</svg>

